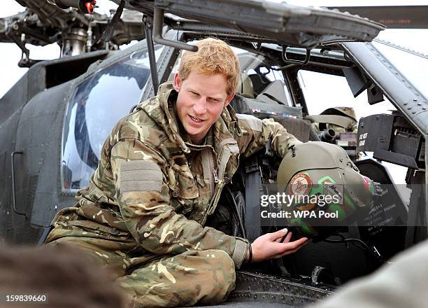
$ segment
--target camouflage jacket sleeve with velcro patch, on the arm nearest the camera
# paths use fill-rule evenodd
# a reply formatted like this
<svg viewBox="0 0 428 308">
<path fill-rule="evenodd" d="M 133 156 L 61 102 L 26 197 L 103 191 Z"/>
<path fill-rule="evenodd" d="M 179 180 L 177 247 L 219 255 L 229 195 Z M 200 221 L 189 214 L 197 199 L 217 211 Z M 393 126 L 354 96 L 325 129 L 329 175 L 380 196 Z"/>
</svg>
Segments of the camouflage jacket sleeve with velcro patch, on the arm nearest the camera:
<svg viewBox="0 0 428 308">
<path fill-rule="evenodd" d="M 122 139 L 111 148 L 110 162 L 124 223 L 145 250 L 162 255 L 220 249 L 241 266 L 248 241 L 176 213 L 168 185 L 171 167 L 150 144 Z"/>
</svg>

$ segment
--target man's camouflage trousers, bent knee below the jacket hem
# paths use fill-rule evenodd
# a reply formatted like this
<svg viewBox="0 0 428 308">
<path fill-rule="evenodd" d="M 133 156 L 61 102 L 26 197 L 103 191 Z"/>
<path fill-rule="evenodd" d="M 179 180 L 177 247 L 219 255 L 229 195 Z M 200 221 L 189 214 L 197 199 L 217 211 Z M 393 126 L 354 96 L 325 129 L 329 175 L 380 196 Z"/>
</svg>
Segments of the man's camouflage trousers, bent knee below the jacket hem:
<svg viewBox="0 0 428 308">
<path fill-rule="evenodd" d="M 234 262 L 221 250 L 138 255 L 141 248 L 133 239 L 76 237 L 76 230 L 71 232 L 74 236 L 58 238 L 55 229 L 46 240 L 48 245 L 76 246 L 109 269 L 113 279 L 129 295 L 130 307 L 216 304 L 226 300 L 235 288 Z M 64 235 L 64 232 L 59 233 Z"/>
</svg>

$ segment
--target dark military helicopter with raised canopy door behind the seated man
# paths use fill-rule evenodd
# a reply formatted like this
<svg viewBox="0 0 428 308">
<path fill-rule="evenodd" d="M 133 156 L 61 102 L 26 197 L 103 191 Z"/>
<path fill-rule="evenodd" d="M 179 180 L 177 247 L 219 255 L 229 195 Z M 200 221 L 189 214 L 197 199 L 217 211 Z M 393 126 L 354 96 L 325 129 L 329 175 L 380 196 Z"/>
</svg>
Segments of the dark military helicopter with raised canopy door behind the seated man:
<svg viewBox="0 0 428 308">
<path fill-rule="evenodd" d="M 275 118 L 301 141 L 338 144 L 361 174 L 378 183 L 394 187 L 380 163 L 385 161 L 408 168 L 409 187 L 420 184 L 411 186 L 408 203 L 395 194 L 402 225 L 346 231 L 364 249 L 345 241 L 313 241 L 291 257 L 237 272 L 229 302 L 303 306 L 379 267 L 373 251 L 387 260 L 427 238 L 428 94 L 385 50 L 406 59 L 428 57 L 377 40 L 385 29 L 380 23 L 338 10 L 267 1 L 117 0 L 111 19 L 93 12 L 95 1 L 17 2 L 27 11 L 0 22 L 0 40 L 20 45 L 20 65 L 29 66 L 0 99 L 0 238 L 5 241 L 43 242 L 55 213 L 71 206 L 78 189 L 89 183 L 113 125 L 170 80 L 180 50 L 194 48 L 189 41 L 206 36 L 236 48 L 242 70 L 233 102 L 238 113 Z M 141 42 L 117 50 L 134 39 Z M 24 45 L 55 41 L 62 45 L 62 57 L 51 61 L 31 60 Z M 322 118 L 310 113 L 302 72 L 339 76 L 355 97 L 366 90 L 367 106 L 387 99 L 397 110 L 360 119 L 357 133 L 337 134 L 328 125 L 315 132 L 311 122 Z M 359 159 L 357 153 L 365 151 L 373 152 L 373 158 Z M 275 177 L 268 152 L 242 162 L 230 188 L 242 192 L 240 235 L 250 240 L 271 232 L 254 211 L 262 186 Z M 392 206 L 380 205 L 385 211 Z"/>
</svg>

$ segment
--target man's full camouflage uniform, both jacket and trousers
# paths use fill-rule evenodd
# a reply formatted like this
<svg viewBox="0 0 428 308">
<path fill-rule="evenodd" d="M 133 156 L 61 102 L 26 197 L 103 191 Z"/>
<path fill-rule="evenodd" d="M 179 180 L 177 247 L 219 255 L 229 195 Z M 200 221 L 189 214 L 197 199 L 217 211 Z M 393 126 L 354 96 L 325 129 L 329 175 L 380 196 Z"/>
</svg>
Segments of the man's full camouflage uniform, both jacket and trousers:
<svg viewBox="0 0 428 308">
<path fill-rule="evenodd" d="M 55 216 L 50 244 L 71 244 L 112 269 L 134 307 L 222 302 L 248 241 L 203 227 L 224 185 L 272 139 L 283 157 L 299 143 L 273 120 L 227 107 L 205 144 L 189 142 L 175 115 L 171 83 L 115 125 L 90 186 Z"/>
</svg>

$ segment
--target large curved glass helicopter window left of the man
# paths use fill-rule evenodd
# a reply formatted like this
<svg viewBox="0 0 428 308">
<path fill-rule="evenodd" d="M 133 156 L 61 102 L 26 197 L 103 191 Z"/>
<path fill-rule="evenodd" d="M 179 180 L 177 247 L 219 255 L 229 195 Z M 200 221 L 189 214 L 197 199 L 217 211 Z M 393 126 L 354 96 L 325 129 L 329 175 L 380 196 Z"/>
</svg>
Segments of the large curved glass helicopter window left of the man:
<svg viewBox="0 0 428 308">
<path fill-rule="evenodd" d="M 155 46 L 156 56 L 162 45 Z M 150 77 L 147 50 L 107 66 L 83 80 L 66 111 L 62 148 L 62 188 L 89 185 L 101 148 L 113 126 L 140 102 Z"/>
</svg>

